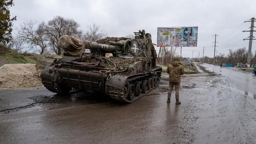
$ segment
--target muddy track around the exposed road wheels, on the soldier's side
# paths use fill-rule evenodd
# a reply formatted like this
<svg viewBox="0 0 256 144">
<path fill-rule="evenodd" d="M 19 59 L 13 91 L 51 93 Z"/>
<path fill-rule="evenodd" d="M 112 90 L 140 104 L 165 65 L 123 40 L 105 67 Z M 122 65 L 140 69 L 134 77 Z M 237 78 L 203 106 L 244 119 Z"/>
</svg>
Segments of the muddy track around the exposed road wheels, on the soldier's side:
<svg viewBox="0 0 256 144">
<path fill-rule="evenodd" d="M 147 76 L 148 75 L 137 76 L 137 77 L 134 77 L 134 78 L 131 78 L 131 79 L 127 79 L 126 82 L 131 82 L 131 81 L 134 81 L 134 80 L 137 80 L 137 79 L 142 79 L 142 78 L 145 78 Z M 161 73 L 160 73 L 160 77 L 161 77 Z M 145 95 L 147 95 L 152 90 L 156 89 L 158 87 L 159 81 L 160 81 L 160 79 L 158 80 L 158 83 L 156 84 L 156 87 L 152 87 L 150 90 L 147 90 L 147 92 L 145 92 L 144 94 L 141 94 L 140 96 L 135 96 L 134 100 L 132 100 L 132 101 L 126 99 L 126 96 L 124 96 L 123 90 L 117 89 L 115 87 L 109 87 L 109 96 L 111 98 L 113 98 L 114 100 L 117 100 L 117 101 L 126 102 L 126 103 L 133 103 L 136 100 L 139 100 L 140 98 L 142 98 Z"/>
</svg>

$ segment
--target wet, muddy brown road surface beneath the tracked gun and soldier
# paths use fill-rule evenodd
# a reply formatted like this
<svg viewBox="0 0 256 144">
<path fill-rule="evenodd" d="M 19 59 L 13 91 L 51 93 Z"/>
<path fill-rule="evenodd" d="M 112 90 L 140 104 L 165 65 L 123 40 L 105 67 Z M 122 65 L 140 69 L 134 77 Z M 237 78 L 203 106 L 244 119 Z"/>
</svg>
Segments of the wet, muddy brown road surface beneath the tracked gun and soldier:
<svg viewBox="0 0 256 144">
<path fill-rule="evenodd" d="M 256 143 L 256 77 L 203 66 L 215 75 L 184 75 L 181 105 L 174 93 L 166 103 L 167 74 L 158 89 L 132 104 L 90 91 L 0 89 L 0 143 Z"/>
</svg>

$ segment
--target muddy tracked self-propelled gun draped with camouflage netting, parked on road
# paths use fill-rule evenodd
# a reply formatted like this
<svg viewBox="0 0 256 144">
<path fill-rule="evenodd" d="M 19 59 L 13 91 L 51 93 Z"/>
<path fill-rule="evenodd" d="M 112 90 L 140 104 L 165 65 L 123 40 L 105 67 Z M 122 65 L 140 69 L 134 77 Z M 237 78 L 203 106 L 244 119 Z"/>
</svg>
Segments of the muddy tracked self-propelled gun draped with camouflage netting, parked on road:
<svg viewBox="0 0 256 144">
<path fill-rule="evenodd" d="M 150 33 L 139 30 L 134 34 L 134 39 L 98 42 L 61 36 L 58 46 L 63 57 L 42 71 L 43 85 L 56 93 L 85 89 L 117 101 L 135 102 L 158 87 L 162 69 L 156 66 Z M 86 53 L 88 50 L 91 53 Z"/>
</svg>

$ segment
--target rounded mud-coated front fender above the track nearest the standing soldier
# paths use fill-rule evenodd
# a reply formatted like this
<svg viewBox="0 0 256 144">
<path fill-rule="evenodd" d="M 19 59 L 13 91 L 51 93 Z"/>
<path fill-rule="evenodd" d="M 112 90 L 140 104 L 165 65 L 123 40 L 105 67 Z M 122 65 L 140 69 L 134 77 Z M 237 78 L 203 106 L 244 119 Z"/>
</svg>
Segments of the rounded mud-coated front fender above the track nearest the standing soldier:
<svg viewBox="0 0 256 144">
<path fill-rule="evenodd" d="M 118 89 L 122 89 L 124 88 L 124 82 L 127 78 L 128 76 L 114 75 L 106 81 L 106 85 L 108 85 L 109 87 L 116 87 Z"/>
</svg>

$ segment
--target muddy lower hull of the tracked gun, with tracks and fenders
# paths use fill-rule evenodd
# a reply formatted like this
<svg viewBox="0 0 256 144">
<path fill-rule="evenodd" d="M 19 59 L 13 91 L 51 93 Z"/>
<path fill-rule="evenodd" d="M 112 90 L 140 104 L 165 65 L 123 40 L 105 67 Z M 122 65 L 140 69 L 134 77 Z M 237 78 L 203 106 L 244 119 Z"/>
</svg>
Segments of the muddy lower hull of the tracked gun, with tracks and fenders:
<svg viewBox="0 0 256 144">
<path fill-rule="evenodd" d="M 93 90 L 102 92 L 114 100 L 126 103 L 133 103 L 155 89 L 161 78 L 161 67 L 155 66 L 150 71 L 139 71 L 141 68 L 134 63 L 131 66 L 137 68 L 134 69 L 135 73 L 130 75 L 100 74 L 98 73 L 98 68 L 81 68 L 81 66 L 69 64 L 62 66 L 61 68 L 49 66 L 43 70 L 41 79 L 46 89 L 56 93 L 67 93 L 70 90 L 78 89 Z M 148 79 L 155 81 L 155 84 L 148 81 Z M 148 81 L 148 84 L 146 90 L 143 91 L 141 89 L 145 80 Z M 136 89 L 136 85 L 139 82 L 141 86 Z M 132 90 L 131 85 L 134 85 L 134 90 Z M 136 95 L 136 91 L 141 92 Z"/>
</svg>

